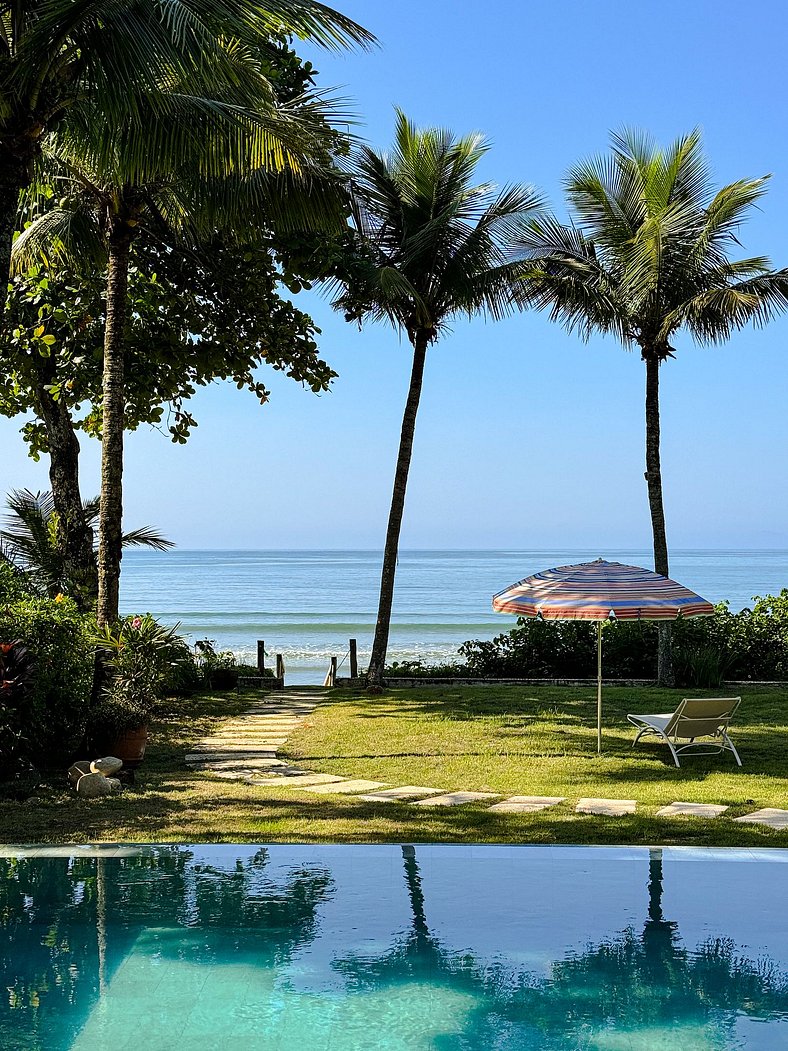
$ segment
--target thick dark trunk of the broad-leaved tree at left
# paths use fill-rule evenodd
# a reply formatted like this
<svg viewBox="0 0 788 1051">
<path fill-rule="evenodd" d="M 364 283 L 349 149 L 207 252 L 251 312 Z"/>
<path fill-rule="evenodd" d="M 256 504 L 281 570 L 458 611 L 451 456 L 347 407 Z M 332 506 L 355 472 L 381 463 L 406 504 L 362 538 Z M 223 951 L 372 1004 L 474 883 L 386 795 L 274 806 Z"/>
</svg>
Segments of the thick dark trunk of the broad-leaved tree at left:
<svg viewBox="0 0 788 1051">
<path fill-rule="evenodd" d="M 87 610 L 96 601 L 97 579 L 94 531 L 85 521 L 80 492 L 80 444 L 65 401 L 55 400 L 46 389 L 51 378 L 40 375 L 40 380 L 36 397 L 49 448 L 49 485 L 58 513 L 58 539 L 75 585 L 71 597 Z"/>
</svg>

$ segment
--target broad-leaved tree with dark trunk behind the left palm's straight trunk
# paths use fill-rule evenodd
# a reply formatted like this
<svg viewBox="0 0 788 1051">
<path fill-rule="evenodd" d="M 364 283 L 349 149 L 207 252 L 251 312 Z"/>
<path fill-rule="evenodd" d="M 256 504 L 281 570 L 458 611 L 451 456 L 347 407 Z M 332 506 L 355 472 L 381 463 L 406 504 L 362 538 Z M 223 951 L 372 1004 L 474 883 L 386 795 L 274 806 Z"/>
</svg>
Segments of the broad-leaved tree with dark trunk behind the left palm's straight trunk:
<svg viewBox="0 0 788 1051">
<path fill-rule="evenodd" d="M 166 426 L 183 444 L 196 426 L 187 403 L 198 387 L 229 379 L 265 403 L 264 365 L 328 389 L 334 373 L 318 356 L 311 318 L 278 294 L 272 239 L 243 245 L 216 235 L 172 250 L 143 235 L 130 262 L 126 430 Z M 95 573 L 77 432 L 101 437 L 104 288 L 100 266 L 33 266 L 12 282 L 9 333 L 0 336 L 0 413 L 34 416 L 22 434 L 35 459 L 49 456 L 58 542 L 75 577 Z"/>
</svg>

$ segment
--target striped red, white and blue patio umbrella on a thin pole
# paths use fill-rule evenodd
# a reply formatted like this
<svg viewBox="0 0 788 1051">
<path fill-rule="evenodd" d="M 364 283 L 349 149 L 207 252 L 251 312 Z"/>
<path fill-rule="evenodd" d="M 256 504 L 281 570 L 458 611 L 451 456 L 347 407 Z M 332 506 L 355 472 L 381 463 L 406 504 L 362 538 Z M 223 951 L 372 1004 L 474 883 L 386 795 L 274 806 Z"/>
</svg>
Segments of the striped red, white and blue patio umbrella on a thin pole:
<svg viewBox="0 0 788 1051">
<path fill-rule="evenodd" d="M 597 621 L 597 751 L 602 751 L 602 624 L 606 620 L 676 620 L 710 617 L 706 599 L 639 565 L 580 562 L 544 570 L 493 598 L 496 613 L 542 620 Z"/>
</svg>

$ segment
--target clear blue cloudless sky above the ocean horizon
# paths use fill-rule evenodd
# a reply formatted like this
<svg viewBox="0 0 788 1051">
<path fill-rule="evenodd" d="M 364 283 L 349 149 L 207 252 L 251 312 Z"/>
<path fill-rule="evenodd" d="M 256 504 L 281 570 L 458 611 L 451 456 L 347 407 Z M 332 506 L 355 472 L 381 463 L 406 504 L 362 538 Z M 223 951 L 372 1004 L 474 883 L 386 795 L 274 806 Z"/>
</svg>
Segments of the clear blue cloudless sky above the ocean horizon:
<svg viewBox="0 0 788 1051">
<path fill-rule="evenodd" d="M 314 55 L 386 147 L 393 108 L 493 141 L 482 174 L 530 182 L 563 211 L 561 176 L 635 125 L 696 125 L 719 183 L 772 172 L 742 254 L 788 266 L 788 4 L 760 0 L 345 0 L 380 40 Z M 193 401 L 187 447 L 128 436 L 126 523 L 186 548 L 379 548 L 410 369 L 385 327 L 358 332 L 298 305 L 339 373 L 316 397 L 266 375 L 261 409 L 232 387 Z M 662 370 L 663 478 L 673 548 L 788 547 L 788 318 Z M 644 370 L 611 339 L 581 343 L 540 314 L 459 322 L 428 359 L 402 530 L 410 548 L 648 547 Z M 0 420 L 0 485 L 44 488 L 18 421 Z M 98 451 L 83 440 L 84 491 Z"/>
</svg>

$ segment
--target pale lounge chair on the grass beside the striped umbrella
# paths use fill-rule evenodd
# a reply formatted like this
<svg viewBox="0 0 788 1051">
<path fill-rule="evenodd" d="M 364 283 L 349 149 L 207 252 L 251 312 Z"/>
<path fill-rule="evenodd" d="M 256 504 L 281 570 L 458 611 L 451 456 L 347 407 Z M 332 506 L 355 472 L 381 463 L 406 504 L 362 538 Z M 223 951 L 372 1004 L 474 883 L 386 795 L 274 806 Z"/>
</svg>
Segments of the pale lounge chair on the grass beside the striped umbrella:
<svg viewBox="0 0 788 1051">
<path fill-rule="evenodd" d="M 679 754 L 683 751 L 692 751 L 697 756 L 732 751 L 741 766 L 742 760 L 728 737 L 730 720 L 741 703 L 741 697 L 685 697 L 672 715 L 627 716 L 638 730 L 633 748 L 642 737 L 654 735 L 667 744 L 677 766 L 681 766 Z M 701 737 L 716 740 L 696 744 L 696 739 Z M 688 743 L 679 744 L 680 741 Z"/>
</svg>

